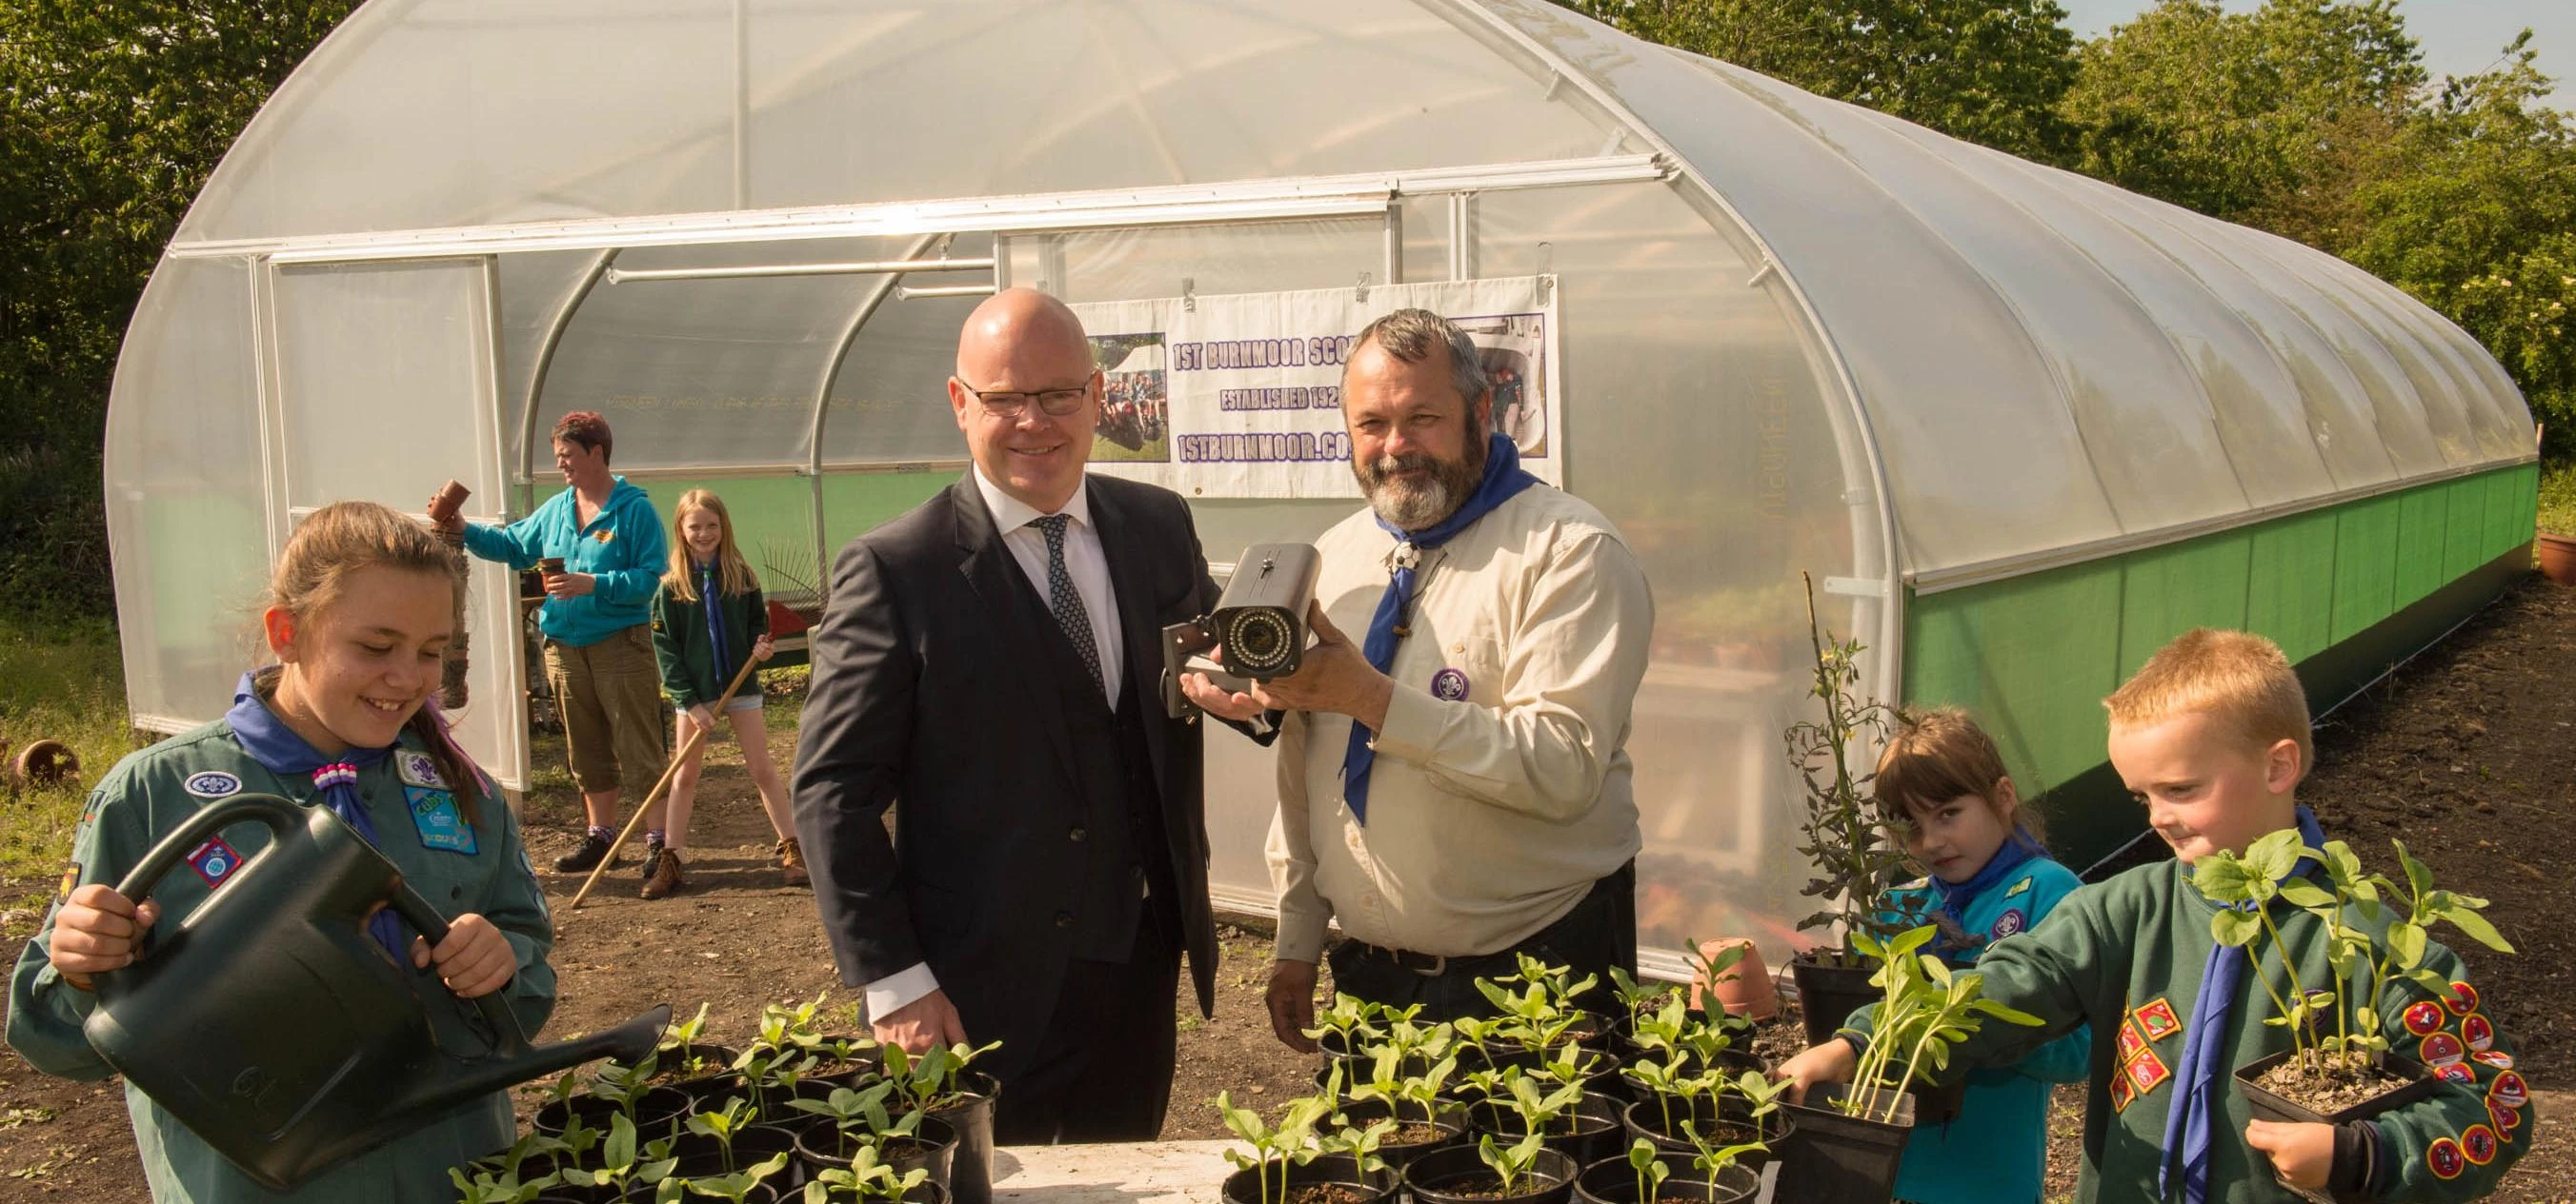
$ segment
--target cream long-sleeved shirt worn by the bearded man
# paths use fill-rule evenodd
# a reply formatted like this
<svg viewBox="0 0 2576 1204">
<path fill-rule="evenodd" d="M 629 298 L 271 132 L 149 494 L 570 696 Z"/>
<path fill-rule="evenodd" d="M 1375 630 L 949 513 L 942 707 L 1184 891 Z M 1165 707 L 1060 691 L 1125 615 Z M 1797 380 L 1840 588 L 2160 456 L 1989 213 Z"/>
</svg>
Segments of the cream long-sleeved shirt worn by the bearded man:
<svg viewBox="0 0 2576 1204">
<path fill-rule="evenodd" d="M 1316 599 L 1365 643 L 1396 540 L 1360 509 L 1316 551 Z M 1409 628 L 1365 826 L 1342 800 L 1352 720 L 1293 713 L 1280 731 L 1280 960 L 1314 962 L 1334 918 L 1391 949 L 1502 952 L 1636 857 L 1625 743 L 1654 599 L 1610 520 L 1522 489 L 1422 553 Z"/>
</svg>

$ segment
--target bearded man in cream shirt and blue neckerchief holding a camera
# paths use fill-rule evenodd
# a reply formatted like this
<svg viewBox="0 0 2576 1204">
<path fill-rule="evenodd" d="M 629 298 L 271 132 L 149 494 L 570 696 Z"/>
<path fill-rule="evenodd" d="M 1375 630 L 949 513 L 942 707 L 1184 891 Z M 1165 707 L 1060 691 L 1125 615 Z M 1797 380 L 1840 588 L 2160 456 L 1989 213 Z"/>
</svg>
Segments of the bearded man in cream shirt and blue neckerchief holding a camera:
<svg viewBox="0 0 2576 1204">
<path fill-rule="evenodd" d="M 1520 468 L 1476 345 L 1440 314 L 1360 332 L 1342 419 L 1368 509 L 1316 540 L 1316 646 L 1249 692 L 1182 679 L 1218 718 L 1285 713 L 1267 1003 L 1298 1050 L 1332 921 L 1334 988 L 1425 1021 L 1492 1011 L 1473 980 L 1515 954 L 1636 970 L 1625 743 L 1654 633 L 1636 553 Z"/>
</svg>

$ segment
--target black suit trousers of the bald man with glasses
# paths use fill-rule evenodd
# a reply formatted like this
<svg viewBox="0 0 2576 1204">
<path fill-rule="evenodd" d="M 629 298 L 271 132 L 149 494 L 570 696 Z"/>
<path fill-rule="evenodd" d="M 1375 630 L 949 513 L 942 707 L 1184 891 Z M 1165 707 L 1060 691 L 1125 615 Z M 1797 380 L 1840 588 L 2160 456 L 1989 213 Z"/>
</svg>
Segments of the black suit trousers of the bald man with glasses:
<svg viewBox="0 0 2576 1204">
<path fill-rule="evenodd" d="M 1180 1057 L 1180 918 L 1162 898 L 1144 908 L 1126 962 L 1064 962 L 1036 1063 L 994 1101 L 994 1145 L 1162 1137 Z"/>
</svg>

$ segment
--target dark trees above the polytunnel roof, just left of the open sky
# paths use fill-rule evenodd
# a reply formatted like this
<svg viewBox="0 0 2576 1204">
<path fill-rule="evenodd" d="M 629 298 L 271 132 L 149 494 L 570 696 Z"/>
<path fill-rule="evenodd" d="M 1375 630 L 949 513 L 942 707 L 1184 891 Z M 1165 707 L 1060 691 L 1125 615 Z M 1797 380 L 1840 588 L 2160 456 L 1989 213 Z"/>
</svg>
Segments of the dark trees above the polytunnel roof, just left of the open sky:
<svg viewBox="0 0 2576 1204">
<path fill-rule="evenodd" d="M 2056 162 L 2076 39 L 2056 0 L 1558 0 L 1649 41 Z"/>
</svg>

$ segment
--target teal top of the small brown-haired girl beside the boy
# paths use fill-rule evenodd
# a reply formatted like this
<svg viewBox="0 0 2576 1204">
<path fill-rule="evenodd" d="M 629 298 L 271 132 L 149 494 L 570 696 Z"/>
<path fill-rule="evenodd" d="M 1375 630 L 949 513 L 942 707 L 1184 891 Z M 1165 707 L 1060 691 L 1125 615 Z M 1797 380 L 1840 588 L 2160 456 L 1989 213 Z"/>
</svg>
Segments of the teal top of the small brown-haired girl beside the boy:
<svg viewBox="0 0 2576 1204">
<path fill-rule="evenodd" d="M 1973 962 L 1991 939 L 2035 929 L 2058 900 L 2084 880 L 2048 857 L 2032 857 L 2002 882 L 1960 908 L 1971 947 L 1953 965 Z M 1899 888 L 1896 913 L 1935 916 L 1940 898 L 1929 885 Z M 2069 1032 L 2007 1068 L 1968 1075 L 1968 1099 L 1958 1119 L 1927 1124 L 1906 1140 L 1896 1168 L 1896 1199 L 1917 1204 L 2038 1204 L 2048 1176 L 2048 1091 L 2056 1083 L 2081 1083 L 2092 1065 L 2092 1034 Z"/>
</svg>

